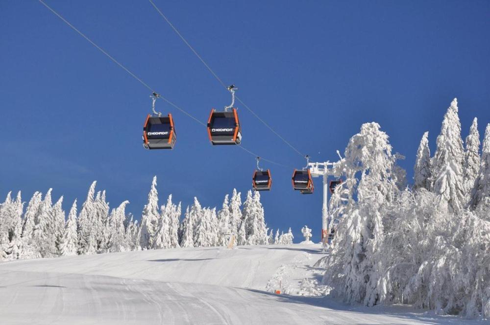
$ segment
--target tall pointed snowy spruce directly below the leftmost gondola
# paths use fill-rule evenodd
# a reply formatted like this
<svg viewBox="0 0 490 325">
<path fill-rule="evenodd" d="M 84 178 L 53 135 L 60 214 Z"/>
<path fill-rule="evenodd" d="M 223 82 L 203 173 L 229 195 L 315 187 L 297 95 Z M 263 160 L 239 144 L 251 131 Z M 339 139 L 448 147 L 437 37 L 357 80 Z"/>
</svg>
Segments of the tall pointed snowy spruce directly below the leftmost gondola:
<svg viewBox="0 0 490 325">
<path fill-rule="evenodd" d="M 140 245 L 142 249 L 150 249 L 153 247 L 153 241 L 158 227 L 158 192 L 156 190 L 156 176 L 151 182 L 151 189 L 148 193 L 148 203 L 143 209 L 141 217 L 141 239 Z"/>
</svg>

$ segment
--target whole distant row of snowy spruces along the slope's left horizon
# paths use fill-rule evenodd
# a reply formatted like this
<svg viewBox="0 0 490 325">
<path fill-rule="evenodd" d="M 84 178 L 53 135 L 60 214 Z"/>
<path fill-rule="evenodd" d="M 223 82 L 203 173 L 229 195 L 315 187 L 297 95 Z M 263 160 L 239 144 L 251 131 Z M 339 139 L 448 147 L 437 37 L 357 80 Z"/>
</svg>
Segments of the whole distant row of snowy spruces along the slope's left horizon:
<svg viewBox="0 0 490 325">
<path fill-rule="evenodd" d="M 15 199 L 8 193 L 0 204 L 0 261 L 18 258 L 55 257 L 175 247 L 227 246 L 234 235 L 239 245 L 289 244 L 291 229 L 275 237 L 267 227 L 259 192 L 248 191 L 242 207 L 241 193 L 225 196 L 221 210 L 203 208 L 196 198 L 187 207 L 180 223 L 181 204 L 158 205 L 156 177 L 153 178 L 141 226 L 126 214 L 124 201 L 110 210 L 105 191 L 96 193 L 96 182 L 89 188 L 79 213 L 77 202 L 66 219 L 63 197 L 54 205 L 51 189 L 43 198 L 36 192 L 24 213 L 21 193 Z"/>
</svg>

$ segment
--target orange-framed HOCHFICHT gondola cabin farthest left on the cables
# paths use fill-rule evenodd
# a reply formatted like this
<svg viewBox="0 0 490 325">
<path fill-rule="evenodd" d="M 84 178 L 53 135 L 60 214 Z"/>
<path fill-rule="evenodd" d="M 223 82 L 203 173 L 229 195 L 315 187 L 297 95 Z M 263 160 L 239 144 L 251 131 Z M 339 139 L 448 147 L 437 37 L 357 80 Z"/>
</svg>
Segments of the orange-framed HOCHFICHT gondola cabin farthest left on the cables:
<svg viewBox="0 0 490 325">
<path fill-rule="evenodd" d="M 143 126 L 143 146 L 147 149 L 173 149 L 177 136 L 173 127 L 172 114 L 150 116 Z"/>
</svg>

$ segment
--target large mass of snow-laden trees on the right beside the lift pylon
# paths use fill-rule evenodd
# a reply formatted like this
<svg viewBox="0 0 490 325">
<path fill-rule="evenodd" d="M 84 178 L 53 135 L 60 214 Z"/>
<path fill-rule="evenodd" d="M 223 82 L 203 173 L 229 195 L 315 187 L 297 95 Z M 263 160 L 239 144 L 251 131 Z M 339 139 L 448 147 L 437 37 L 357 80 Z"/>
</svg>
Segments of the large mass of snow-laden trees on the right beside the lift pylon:
<svg viewBox="0 0 490 325">
<path fill-rule="evenodd" d="M 330 201 L 340 222 L 319 263 L 323 282 L 347 302 L 490 317 L 490 124 L 480 156 L 477 120 L 464 146 L 454 99 L 433 157 L 428 143 L 425 133 L 409 188 L 377 123 L 350 139 L 337 166 L 346 182 Z"/>
</svg>

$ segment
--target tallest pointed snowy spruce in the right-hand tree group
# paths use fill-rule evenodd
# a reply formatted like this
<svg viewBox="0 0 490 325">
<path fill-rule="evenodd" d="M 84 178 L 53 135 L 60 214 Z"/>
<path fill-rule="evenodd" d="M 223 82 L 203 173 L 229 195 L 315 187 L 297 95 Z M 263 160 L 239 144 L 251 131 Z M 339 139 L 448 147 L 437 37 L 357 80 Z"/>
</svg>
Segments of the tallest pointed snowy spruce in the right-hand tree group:
<svg viewBox="0 0 490 325">
<path fill-rule="evenodd" d="M 461 139 L 461 123 L 456 98 L 447 109 L 437 137 L 437 150 L 432 163 L 433 191 L 438 204 L 448 212 L 459 212 L 466 203 L 463 185 L 465 152 Z"/>
</svg>

